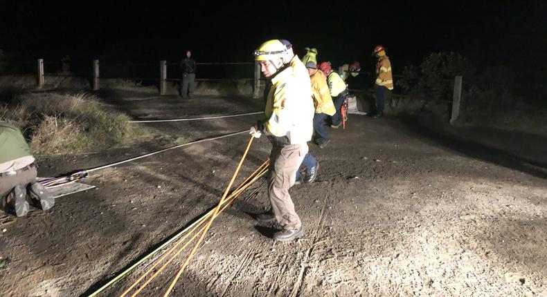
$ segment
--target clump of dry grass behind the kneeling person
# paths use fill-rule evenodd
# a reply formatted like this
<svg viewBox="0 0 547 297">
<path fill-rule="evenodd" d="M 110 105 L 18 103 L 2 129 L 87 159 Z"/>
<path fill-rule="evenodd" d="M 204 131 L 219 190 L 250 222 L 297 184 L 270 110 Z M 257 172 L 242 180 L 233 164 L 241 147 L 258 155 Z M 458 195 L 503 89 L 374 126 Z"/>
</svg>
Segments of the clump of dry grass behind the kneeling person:
<svg viewBox="0 0 547 297">
<path fill-rule="evenodd" d="M 35 155 L 97 151 L 145 134 L 123 113 L 106 111 L 87 93 L 25 93 L 0 106 L 0 119 L 15 124 Z"/>
</svg>

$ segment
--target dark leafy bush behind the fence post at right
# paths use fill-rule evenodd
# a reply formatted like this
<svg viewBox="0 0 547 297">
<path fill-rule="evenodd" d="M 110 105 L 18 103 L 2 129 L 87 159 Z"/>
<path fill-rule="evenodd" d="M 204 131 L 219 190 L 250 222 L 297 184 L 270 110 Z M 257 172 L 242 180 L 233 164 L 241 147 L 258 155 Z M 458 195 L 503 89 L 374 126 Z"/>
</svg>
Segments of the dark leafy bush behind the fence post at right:
<svg viewBox="0 0 547 297">
<path fill-rule="evenodd" d="M 473 75 L 474 65 L 454 52 L 432 53 L 425 57 L 420 69 L 407 66 L 403 69 L 406 78 L 399 80 L 398 85 L 405 93 L 418 95 L 427 99 L 451 99 L 454 92 L 454 77 Z"/>
</svg>

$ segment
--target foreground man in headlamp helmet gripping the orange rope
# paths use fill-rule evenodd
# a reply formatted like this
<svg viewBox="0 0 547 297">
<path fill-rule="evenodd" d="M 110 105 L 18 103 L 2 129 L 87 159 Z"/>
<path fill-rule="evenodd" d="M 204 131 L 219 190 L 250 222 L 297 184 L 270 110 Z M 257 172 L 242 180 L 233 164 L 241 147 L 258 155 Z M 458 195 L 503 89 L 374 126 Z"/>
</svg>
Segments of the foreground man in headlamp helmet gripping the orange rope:
<svg viewBox="0 0 547 297">
<path fill-rule="evenodd" d="M 260 213 L 261 222 L 277 221 L 283 229 L 274 239 L 293 240 L 303 236 L 302 222 L 296 214 L 289 188 L 294 185 L 298 166 L 312 139 L 314 104 L 310 76 L 287 40 L 264 42 L 254 52 L 262 75 L 271 80 L 267 94 L 266 118 L 251 127 L 251 134 L 264 134 L 272 143 L 268 177 L 271 211 Z"/>
</svg>

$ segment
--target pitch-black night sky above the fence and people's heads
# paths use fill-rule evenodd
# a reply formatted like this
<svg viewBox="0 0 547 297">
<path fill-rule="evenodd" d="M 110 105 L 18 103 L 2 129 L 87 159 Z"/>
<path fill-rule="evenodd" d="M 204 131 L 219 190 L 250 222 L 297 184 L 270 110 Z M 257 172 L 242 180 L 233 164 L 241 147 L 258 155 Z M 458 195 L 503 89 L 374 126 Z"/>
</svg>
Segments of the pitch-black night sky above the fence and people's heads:
<svg viewBox="0 0 547 297">
<path fill-rule="evenodd" d="M 262 41 L 285 38 L 334 64 L 369 63 L 376 44 L 392 63 L 460 52 L 476 64 L 547 62 L 546 1 L 3 1 L 0 48 L 21 59 L 251 61 Z M 525 68 L 528 66 L 525 66 Z"/>
</svg>

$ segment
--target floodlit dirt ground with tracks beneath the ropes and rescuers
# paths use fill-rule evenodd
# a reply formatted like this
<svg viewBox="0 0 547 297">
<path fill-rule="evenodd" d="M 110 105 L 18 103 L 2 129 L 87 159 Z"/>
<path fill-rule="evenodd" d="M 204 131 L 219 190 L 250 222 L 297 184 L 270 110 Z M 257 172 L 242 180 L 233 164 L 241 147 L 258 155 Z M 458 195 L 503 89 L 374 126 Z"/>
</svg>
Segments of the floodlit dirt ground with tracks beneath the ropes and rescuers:
<svg viewBox="0 0 547 297">
<path fill-rule="evenodd" d="M 102 96 L 142 119 L 260 110 L 246 99 Z M 240 131 L 257 118 L 147 124 L 155 134 L 145 143 L 44 160 L 39 173 Z M 269 238 L 268 226 L 252 218 L 267 208 L 267 194 L 244 195 L 215 220 L 172 296 L 547 296 L 547 175 L 544 163 L 518 160 L 526 144 L 505 155 L 409 120 L 357 115 L 346 130 L 329 133 L 327 147 L 310 144 L 321 164 L 318 180 L 291 189 L 305 236 Z M 91 293 L 212 207 L 246 140 L 98 171 L 86 180 L 98 189 L 60 198 L 51 211 L 0 215 L 0 256 L 12 259 L 0 271 L 0 296 Z M 240 176 L 269 148 L 266 139 L 255 142 Z M 163 294 L 182 261 L 142 296 Z M 100 296 L 117 296 L 146 266 Z"/>
</svg>

